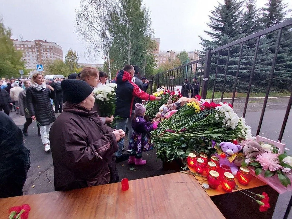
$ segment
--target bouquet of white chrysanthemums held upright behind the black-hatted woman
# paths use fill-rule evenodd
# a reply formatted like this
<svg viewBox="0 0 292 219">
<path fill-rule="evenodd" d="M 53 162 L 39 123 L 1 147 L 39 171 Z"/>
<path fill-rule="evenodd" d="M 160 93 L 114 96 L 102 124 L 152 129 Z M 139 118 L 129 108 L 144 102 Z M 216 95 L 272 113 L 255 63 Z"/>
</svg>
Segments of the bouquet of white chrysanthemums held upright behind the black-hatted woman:
<svg viewBox="0 0 292 219">
<path fill-rule="evenodd" d="M 109 83 L 94 88 L 94 98 L 98 104 L 101 117 L 111 117 L 116 109 L 116 88 L 117 84 Z"/>
</svg>

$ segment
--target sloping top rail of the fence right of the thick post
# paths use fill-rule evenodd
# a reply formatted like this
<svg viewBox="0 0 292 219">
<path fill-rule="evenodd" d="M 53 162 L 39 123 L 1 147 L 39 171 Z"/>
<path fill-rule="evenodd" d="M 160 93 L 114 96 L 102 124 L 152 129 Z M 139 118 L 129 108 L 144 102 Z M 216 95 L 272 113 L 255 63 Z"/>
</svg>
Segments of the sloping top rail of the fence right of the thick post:
<svg viewBox="0 0 292 219">
<path fill-rule="evenodd" d="M 281 29 L 281 28 L 286 27 L 286 26 L 289 26 L 289 25 L 292 25 L 292 18 L 291 18 L 291 19 L 288 19 L 288 20 L 285 20 L 284 22 L 279 23 L 279 24 L 277 24 L 277 25 L 274 25 L 274 26 L 272 26 L 272 27 L 269 27 L 269 28 L 267 28 L 267 29 L 261 30 L 261 31 L 259 31 L 259 32 L 254 33 L 254 34 L 251 34 L 251 35 L 249 35 L 249 36 L 246 36 L 246 37 L 243 37 L 243 38 L 241 38 L 241 39 L 235 40 L 235 41 L 233 41 L 233 42 L 231 42 L 231 43 L 229 43 L 229 44 L 226 44 L 226 45 L 224 45 L 224 46 L 220 46 L 220 47 L 218 47 L 218 48 L 212 49 L 212 50 L 211 50 L 211 53 L 215 53 L 215 52 L 217 52 L 217 51 L 219 51 L 219 50 L 222 50 L 222 49 L 228 48 L 228 47 L 230 47 L 230 46 L 234 46 L 234 45 L 236 45 L 236 44 L 240 44 L 240 43 L 245 42 L 245 41 L 247 41 L 247 40 L 254 39 L 254 38 L 256 38 L 256 37 L 259 37 L 259 36 L 265 35 L 265 34 L 267 34 L 267 33 L 273 32 L 273 31 L 275 31 L 275 30 Z"/>
</svg>

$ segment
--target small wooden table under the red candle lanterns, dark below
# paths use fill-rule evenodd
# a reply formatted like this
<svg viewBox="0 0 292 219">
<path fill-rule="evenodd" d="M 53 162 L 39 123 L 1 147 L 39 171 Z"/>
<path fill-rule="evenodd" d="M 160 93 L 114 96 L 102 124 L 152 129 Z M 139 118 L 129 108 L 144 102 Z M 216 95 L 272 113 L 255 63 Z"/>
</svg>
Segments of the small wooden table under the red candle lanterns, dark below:
<svg viewBox="0 0 292 219">
<path fill-rule="evenodd" d="M 195 173 L 194 168 L 189 167 L 189 169 Z M 204 172 L 203 175 L 206 176 L 206 172 Z M 194 177 L 199 181 L 200 184 L 203 182 L 203 180 L 204 183 L 207 183 L 207 179 L 204 177 Z M 233 190 L 232 192 L 227 193 L 222 189 L 221 185 L 219 185 L 216 190 L 211 188 L 205 190 L 214 204 L 218 207 L 220 212 L 224 215 L 224 217 L 227 219 L 271 219 L 277 204 L 279 193 L 254 176 L 252 176 L 251 182 L 249 182 L 248 185 L 239 184 L 236 177 L 234 177 L 234 180 L 236 185 L 242 189 L 246 189 L 256 194 L 262 194 L 263 192 L 266 192 L 270 197 L 271 207 L 266 212 L 260 212 L 259 205 L 255 201 L 252 201 L 250 197 L 237 190 Z"/>
</svg>

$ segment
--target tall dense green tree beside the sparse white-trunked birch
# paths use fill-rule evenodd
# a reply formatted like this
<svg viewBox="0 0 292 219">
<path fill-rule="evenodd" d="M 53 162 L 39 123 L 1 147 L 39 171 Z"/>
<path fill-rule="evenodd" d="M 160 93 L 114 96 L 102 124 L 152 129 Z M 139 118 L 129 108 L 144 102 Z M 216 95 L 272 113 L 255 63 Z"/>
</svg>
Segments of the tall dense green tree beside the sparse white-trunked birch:
<svg viewBox="0 0 292 219">
<path fill-rule="evenodd" d="M 125 64 L 143 66 L 152 46 L 150 24 L 149 10 L 141 0 L 119 0 L 114 6 L 109 19 L 113 72 Z"/>
</svg>

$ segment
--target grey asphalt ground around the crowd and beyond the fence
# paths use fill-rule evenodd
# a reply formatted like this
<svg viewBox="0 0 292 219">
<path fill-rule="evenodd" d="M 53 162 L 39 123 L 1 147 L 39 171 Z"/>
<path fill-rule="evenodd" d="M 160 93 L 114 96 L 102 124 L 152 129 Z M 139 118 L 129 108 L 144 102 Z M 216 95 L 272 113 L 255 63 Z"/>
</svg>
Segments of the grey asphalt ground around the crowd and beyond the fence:
<svg viewBox="0 0 292 219">
<path fill-rule="evenodd" d="M 251 126 L 254 135 L 258 128 L 258 121 L 263 106 L 262 104 L 263 100 L 251 100 L 248 104 L 246 123 Z M 261 136 L 273 140 L 278 139 L 287 104 L 288 98 L 269 99 L 261 128 Z M 243 109 L 244 100 L 236 100 L 234 111 L 241 116 Z M 15 112 L 11 113 L 11 117 L 20 128 L 23 127 L 25 121 L 23 117 L 16 115 Z M 288 119 L 286 131 L 282 140 L 282 142 L 287 143 L 287 148 L 289 148 L 292 153 L 291 130 L 292 115 L 290 115 Z M 31 150 L 31 168 L 29 169 L 23 192 L 24 194 L 37 194 L 54 191 L 52 155 L 50 152 L 44 151 L 41 138 L 37 135 L 35 122 L 29 126 L 28 133 L 29 135 L 27 137 L 24 136 L 24 142 L 25 146 Z M 133 180 L 171 173 L 171 171 L 161 171 L 162 163 L 156 158 L 155 150 L 143 153 L 143 158 L 147 160 L 147 165 L 135 167 L 135 170 L 133 171 L 129 170 L 131 166 L 129 166 L 126 161 L 118 163 L 117 168 L 119 170 L 120 178 L 129 178 L 130 180 Z M 288 193 L 279 196 L 273 218 L 283 218 L 290 197 L 291 194 Z M 289 218 L 292 218 L 292 213 Z"/>
</svg>

